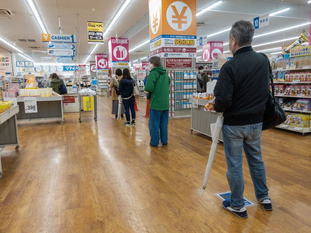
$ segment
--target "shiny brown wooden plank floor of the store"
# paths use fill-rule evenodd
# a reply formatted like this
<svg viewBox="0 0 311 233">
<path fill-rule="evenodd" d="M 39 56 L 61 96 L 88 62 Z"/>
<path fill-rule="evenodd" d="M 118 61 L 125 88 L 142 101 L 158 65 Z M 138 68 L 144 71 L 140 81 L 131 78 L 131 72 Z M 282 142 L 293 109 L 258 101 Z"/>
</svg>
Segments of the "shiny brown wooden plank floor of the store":
<svg viewBox="0 0 311 233">
<path fill-rule="evenodd" d="M 0 232 L 311 232 L 311 135 L 262 134 L 273 211 L 258 205 L 244 160 L 248 218 L 225 211 L 229 191 L 223 144 L 201 198 L 211 139 L 190 119 L 169 120 L 169 146 L 149 147 L 146 101 L 137 125 L 110 114 L 98 96 L 98 122 L 67 113 L 63 125 L 19 124 L 21 148 L 1 155 Z"/>
</svg>

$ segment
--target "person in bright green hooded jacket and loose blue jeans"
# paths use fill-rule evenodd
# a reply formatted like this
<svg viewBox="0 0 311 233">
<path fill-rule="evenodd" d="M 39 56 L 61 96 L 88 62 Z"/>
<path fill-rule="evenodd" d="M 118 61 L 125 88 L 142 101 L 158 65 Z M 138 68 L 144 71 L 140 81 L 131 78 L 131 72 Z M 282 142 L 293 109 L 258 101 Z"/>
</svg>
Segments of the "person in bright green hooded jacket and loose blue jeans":
<svg viewBox="0 0 311 233">
<path fill-rule="evenodd" d="M 149 105 L 149 145 L 157 148 L 167 146 L 167 125 L 169 122 L 169 75 L 163 69 L 160 57 L 149 59 L 150 74 L 145 85 L 145 91 L 150 92 Z M 160 135 L 159 135 L 160 131 Z"/>
</svg>

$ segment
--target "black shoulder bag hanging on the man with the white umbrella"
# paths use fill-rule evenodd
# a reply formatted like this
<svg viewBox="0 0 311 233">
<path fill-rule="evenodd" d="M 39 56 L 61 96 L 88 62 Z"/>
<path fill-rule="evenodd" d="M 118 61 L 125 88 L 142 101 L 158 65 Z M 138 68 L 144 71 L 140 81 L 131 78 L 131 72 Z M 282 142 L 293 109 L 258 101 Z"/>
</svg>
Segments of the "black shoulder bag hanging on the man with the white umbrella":
<svg viewBox="0 0 311 233">
<path fill-rule="evenodd" d="M 267 57 L 265 54 L 263 55 Z M 285 112 L 274 96 L 273 74 L 270 62 L 269 62 L 269 71 L 270 71 L 270 82 L 272 86 L 272 93 L 271 91 L 269 91 L 269 98 L 266 103 L 266 111 L 263 115 L 262 130 L 271 129 L 286 121 Z"/>
</svg>

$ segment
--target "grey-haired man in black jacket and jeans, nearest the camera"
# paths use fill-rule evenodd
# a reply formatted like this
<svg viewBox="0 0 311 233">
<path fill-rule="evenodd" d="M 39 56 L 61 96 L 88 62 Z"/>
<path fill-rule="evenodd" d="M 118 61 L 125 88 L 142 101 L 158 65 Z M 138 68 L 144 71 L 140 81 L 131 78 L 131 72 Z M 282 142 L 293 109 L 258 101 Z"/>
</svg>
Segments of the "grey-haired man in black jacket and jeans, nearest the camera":
<svg viewBox="0 0 311 233">
<path fill-rule="evenodd" d="M 221 67 L 214 89 L 215 100 L 209 102 L 216 112 L 224 113 L 222 132 L 231 201 L 224 201 L 223 207 L 241 218 L 247 217 L 243 198 L 243 148 L 256 198 L 264 210 L 272 210 L 260 147 L 269 95 L 269 60 L 253 51 L 254 32 L 249 21 L 240 20 L 232 25 L 229 49 L 233 58 Z"/>
</svg>

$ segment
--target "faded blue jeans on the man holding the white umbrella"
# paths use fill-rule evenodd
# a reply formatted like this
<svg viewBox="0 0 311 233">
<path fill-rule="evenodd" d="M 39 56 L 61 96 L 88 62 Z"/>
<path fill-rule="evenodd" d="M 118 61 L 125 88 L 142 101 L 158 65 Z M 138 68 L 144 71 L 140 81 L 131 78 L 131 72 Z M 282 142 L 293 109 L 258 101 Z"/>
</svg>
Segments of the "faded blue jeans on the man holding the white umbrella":
<svg viewBox="0 0 311 233">
<path fill-rule="evenodd" d="M 244 207 L 244 179 L 242 170 L 242 148 L 248 162 L 258 201 L 269 199 L 266 182 L 266 170 L 262 161 L 260 137 L 262 123 L 245 126 L 222 127 L 227 162 L 227 179 L 231 190 L 231 206 L 234 209 Z"/>
</svg>

